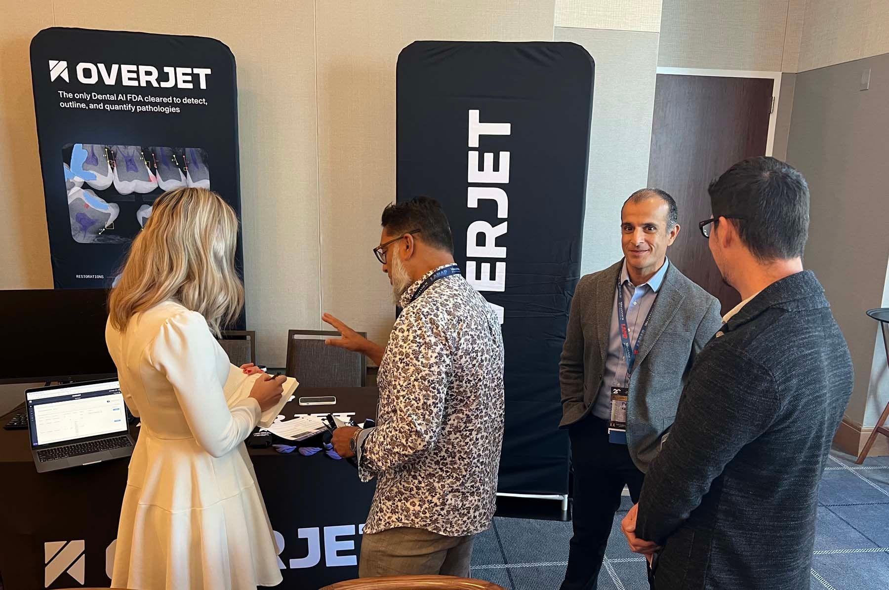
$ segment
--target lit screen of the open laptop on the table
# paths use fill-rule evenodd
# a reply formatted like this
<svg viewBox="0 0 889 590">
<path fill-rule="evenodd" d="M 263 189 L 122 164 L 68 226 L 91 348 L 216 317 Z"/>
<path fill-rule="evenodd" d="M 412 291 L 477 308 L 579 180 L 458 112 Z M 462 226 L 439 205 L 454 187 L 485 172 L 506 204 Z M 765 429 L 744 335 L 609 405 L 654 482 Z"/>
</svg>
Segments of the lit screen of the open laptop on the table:
<svg viewBox="0 0 889 590">
<path fill-rule="evenodd" d="M 126 406 L 117 381 L 28 391 L 31 446 L 125 432 Z"/>
</svg>

